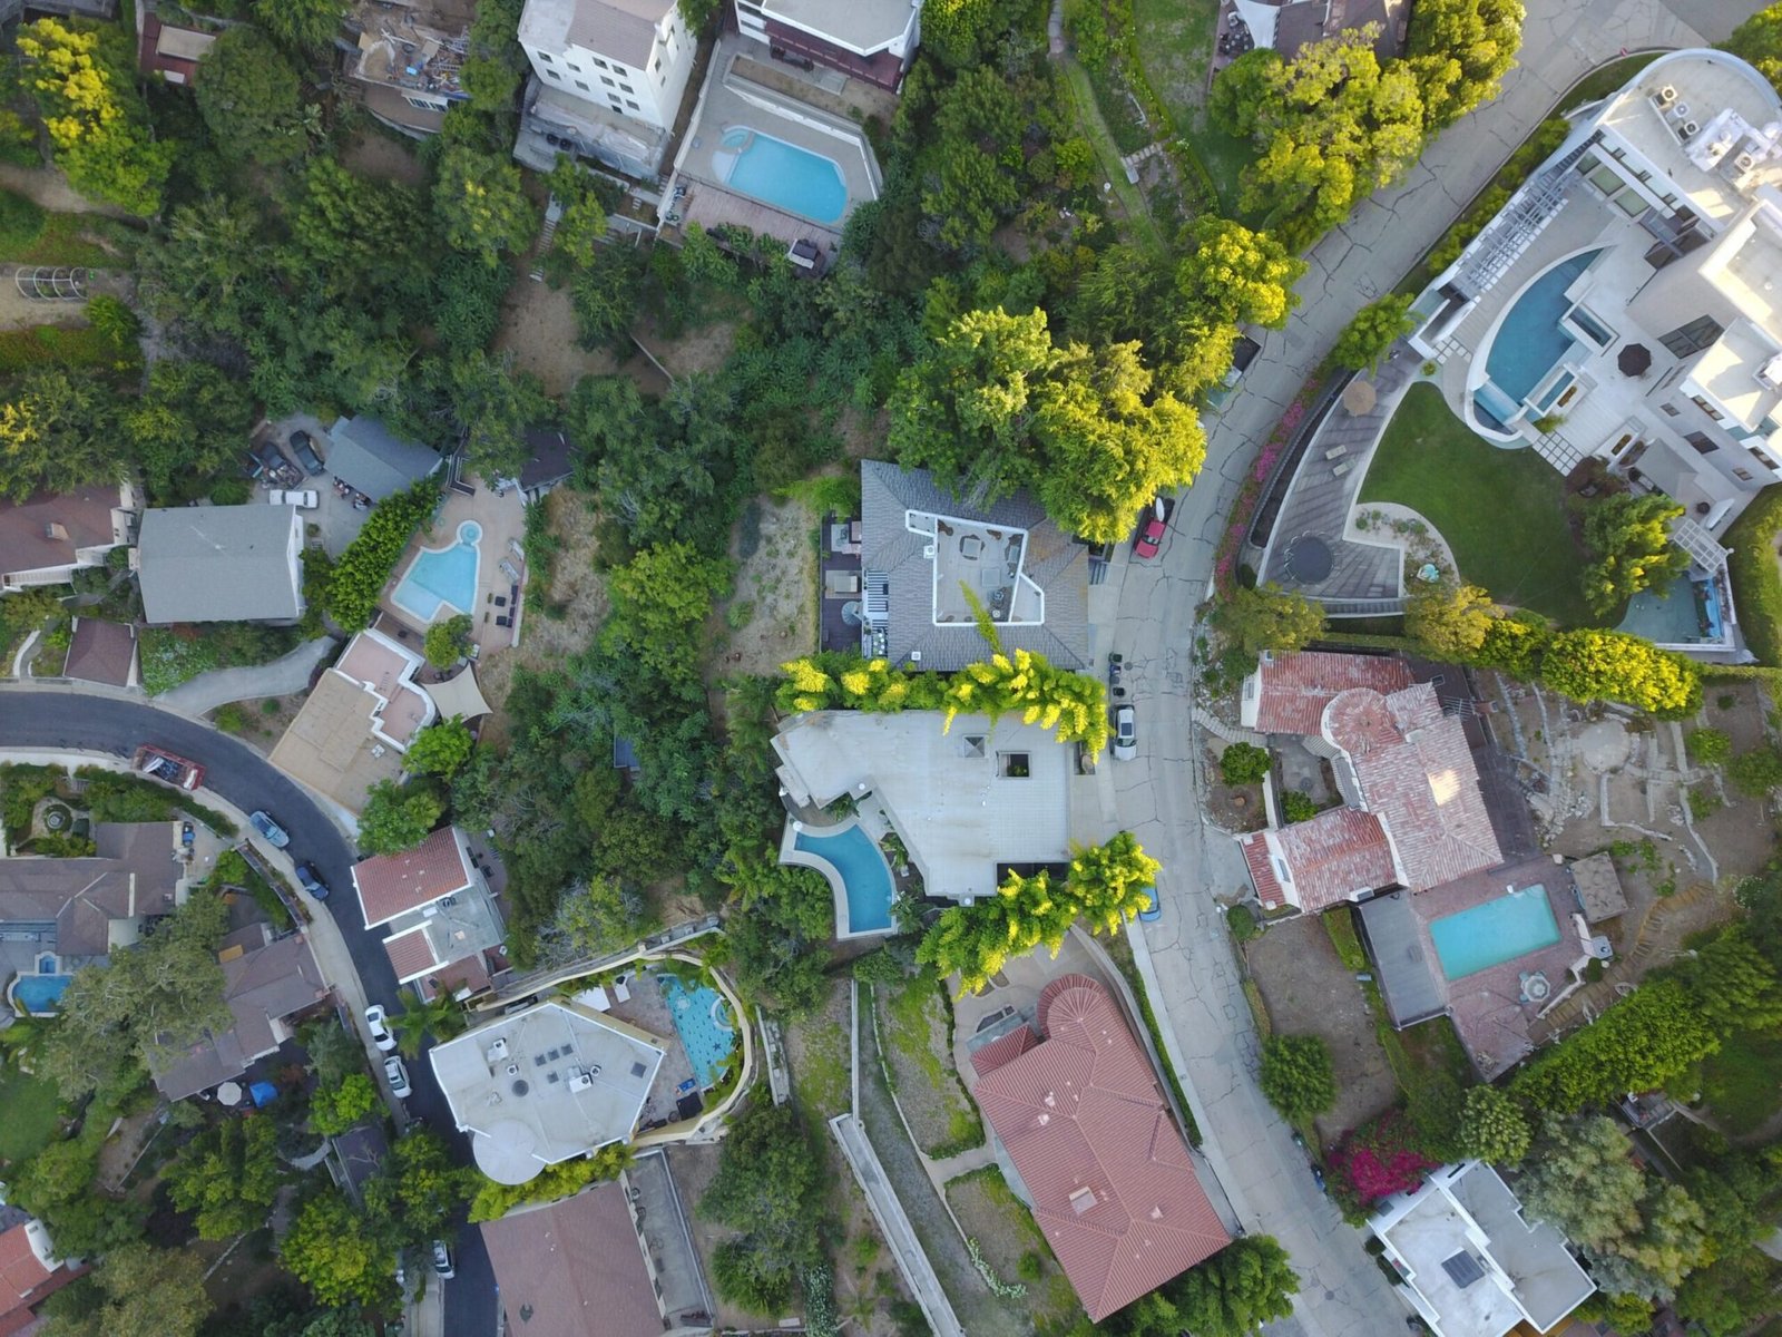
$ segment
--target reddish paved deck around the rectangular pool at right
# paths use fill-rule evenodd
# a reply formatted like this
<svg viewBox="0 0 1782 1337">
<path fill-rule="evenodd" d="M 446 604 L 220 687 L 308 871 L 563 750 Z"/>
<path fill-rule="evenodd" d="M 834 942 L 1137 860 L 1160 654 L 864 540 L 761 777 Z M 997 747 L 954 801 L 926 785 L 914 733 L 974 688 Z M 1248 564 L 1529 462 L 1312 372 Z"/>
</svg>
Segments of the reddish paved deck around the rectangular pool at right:
<svg viewBox="0 0 1782 1337">
<path fill-rule="evenodd" d="M 1554 913 L 1554 923 L 1559 925 L 1559 941 L 1458 980 L 1445 979 L 1429 925 L 1495 900 L 1511 884 L 1547 888 L 1547 904 Z M 1568 982 L 1566 970 L 1584 954 L 1572 920 L 1581 909 L 1572 874 L 1541 854 L 1420 891 L 1411 898 L 1411 907 L 1417 911 L 1424 961 L 1435 975 L 1436 988 L 1447 993 L 1454 1030 L 1474 1066 L 1492 1080 L 1534 1052 L 1534 1020 L 1545 1004 L 1520 1002 L 1522 975 L 1545 973 L 1552 986 L 1549 998 L 1554 998 Z"/>
</svg>

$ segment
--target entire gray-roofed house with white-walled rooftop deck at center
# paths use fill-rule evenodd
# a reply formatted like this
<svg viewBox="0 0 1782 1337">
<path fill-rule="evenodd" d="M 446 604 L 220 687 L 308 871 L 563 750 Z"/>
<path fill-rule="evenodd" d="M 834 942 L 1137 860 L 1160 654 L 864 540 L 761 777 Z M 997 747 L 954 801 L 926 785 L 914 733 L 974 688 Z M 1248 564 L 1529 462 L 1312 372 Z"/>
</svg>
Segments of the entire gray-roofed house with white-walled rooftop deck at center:
<svg viewBox="0 0 1782 1337">
<path fill-rule="evenodd" d="M 898 668 L 952 672 L 993 647 L 1089 667 L 1089 549 L 1019 492 L 971 506 L 925 469 L 861 463 L 861 652 Z M 966 597 L 966 590 L 971 597 Z"/>
</svg>

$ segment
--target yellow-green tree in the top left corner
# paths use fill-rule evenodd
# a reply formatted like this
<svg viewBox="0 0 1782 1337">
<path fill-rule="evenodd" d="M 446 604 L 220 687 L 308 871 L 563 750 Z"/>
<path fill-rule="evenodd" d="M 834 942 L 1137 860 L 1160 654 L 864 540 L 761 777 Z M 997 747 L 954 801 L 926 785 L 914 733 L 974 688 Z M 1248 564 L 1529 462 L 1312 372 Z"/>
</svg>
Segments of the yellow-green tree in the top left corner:
<svg viewBox="0 0 1782 1337">
<path fill-rule="evenodd" d="M 16 45 L 68 184 L 132 214 L 159 214 L 176 146 L 150 135 L 125 29 L 39 18 L 20 29 Z"/>
</svg>

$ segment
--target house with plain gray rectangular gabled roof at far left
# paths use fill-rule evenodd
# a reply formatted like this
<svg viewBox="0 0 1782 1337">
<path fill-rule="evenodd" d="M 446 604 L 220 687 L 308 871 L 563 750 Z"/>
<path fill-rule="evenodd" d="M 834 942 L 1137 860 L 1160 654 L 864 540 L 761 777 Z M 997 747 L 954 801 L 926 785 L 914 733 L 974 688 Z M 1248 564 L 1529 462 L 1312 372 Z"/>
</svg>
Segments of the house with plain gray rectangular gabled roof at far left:
<svg viewBox="0 0 1782 1337">
<path fill-rule="evenodd" d="M 303 515 L 296 506 L 143 512 L 135 563 L 143 619 L 296 622 L 303 617 Z"/>
</svg>

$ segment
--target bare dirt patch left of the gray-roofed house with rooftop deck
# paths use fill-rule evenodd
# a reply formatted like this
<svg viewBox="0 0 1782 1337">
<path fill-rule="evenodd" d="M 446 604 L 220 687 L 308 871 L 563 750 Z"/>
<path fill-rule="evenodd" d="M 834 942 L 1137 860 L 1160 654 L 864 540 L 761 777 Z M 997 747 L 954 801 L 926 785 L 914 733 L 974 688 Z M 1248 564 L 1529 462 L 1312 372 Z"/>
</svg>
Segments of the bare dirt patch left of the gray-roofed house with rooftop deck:
<svg viewBox="0 0 1782 1337">
<path fill-rule="evenodd" d="M 816 519 L 802 501 L 752 501 L 731 535 L 736 590 L 713 619 L 713 676 L 777 674 L 816 649 Z M 722 620 L 720 620 L 722 619 Z"/>
</svg>

